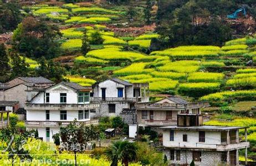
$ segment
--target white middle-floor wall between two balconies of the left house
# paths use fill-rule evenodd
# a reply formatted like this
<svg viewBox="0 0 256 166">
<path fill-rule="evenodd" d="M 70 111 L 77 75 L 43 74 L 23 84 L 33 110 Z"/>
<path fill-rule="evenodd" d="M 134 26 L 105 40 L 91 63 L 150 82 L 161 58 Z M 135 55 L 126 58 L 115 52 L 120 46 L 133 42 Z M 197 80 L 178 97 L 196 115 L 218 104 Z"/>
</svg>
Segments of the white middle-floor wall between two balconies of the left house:
<svg viewBox="0 0 256 166">
<path fill-rule="evenodd" d="M 50 110 L 50 120 L 48 121 L 74 121 L 78 120 L 78 110 L 67 110 L 66 111 L 66 120 L 60 120 L 60 111 L 59 110 Z M 90 120 L 90 111 L 89 118 L 78 120 L 78 121 L 89 121 Z M 45 110 L 27 110 L 27 121 L 46 121 Z"/>
</svg>

